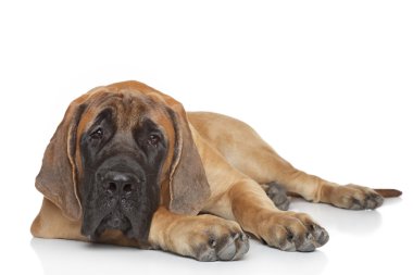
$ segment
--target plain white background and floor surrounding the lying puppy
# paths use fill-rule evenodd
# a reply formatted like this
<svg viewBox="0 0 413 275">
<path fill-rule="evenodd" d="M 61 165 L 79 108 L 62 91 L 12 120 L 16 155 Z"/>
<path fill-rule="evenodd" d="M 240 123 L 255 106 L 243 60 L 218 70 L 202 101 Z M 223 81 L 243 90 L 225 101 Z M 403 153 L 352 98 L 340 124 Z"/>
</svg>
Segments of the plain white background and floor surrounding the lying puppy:
<svg viewBox="0 0 413 275">
<path fill-rule="evenodd" d="M 1 1 L 1 264 L 10 274 L 411 274 L 412 1 Z M 43 150 L 67 104 L 137 79 L 251 124 L 297 167 L 393 187 L 377 211 L 295 201 L 330 241 L 199 263 L 33 239 Z M 410 261 L 410 262 L 409 262 Z"/>
</svg>

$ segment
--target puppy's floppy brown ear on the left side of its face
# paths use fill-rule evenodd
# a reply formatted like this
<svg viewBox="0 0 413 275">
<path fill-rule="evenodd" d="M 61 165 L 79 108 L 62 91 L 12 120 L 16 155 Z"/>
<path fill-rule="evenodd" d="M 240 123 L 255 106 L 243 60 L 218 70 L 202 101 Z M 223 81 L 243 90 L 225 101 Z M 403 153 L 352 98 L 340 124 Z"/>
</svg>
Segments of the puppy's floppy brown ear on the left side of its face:
<svg viewBox="0 0 413 275">
<path fill-rule="evenodd" d="M 45 151 L 42 165 L 36 177 L 36 188 L 70 220 L 79 220 L 82 216 L 76 191 L 74 154 L 77 124 L 86 109 L 84 97 L 73 101 L 67 108 Z"/>
</svg>

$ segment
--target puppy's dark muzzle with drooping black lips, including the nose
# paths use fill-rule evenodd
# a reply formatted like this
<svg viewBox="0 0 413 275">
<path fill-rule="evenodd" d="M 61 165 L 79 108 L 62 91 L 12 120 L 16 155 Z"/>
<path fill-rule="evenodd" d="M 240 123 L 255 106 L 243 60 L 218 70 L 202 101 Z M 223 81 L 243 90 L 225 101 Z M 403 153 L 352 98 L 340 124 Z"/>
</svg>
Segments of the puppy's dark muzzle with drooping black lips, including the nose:
<svg viewBox="0 0 413 275">
<path fill-rule="evenodd" d="M 143 168 L 136 162 L 125 165 L 124 160 L 112 159 L 90 182 L 89 190 L 85 189 L 82 234 L 93 240 L 105 229 L 115 229 L 129 238 L 147 239 L 158 195 Z"/>
</svg>

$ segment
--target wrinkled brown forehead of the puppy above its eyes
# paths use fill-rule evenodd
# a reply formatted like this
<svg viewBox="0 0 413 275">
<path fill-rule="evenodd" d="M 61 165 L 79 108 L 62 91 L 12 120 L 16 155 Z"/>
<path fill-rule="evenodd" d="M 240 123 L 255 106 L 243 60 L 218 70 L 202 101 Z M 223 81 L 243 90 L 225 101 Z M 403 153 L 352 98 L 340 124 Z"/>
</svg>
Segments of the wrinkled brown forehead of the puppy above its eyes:
<svg viewBox="0 0 413 275">
<path fill-rule="evenodd" d="M 129 129 L 150 120 L 166 133 L 173 124 L 166 104 L 155 93 L 143 93 L 132 88 L 102 87 L 91 91 L 89 104 L 79 123 L 79 130 L 88 129 L 102 115 L 110 115 L 118 129 Z"/>
</svg>

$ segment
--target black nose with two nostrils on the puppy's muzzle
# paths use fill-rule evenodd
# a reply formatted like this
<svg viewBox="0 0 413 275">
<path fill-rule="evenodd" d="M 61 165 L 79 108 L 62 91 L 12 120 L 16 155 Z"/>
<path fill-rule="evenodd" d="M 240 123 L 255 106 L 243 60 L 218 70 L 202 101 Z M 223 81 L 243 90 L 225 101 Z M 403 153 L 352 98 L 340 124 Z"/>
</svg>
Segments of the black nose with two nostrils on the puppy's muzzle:
<svg viewBox="0 0 413 275">
<path fill-rule="evenodd" d="M 136 189 L 138 182 L 130 173 L 111 171 L 104 176 L 103 189 L 111 195 L 129 195 Z"/>
</svg>

